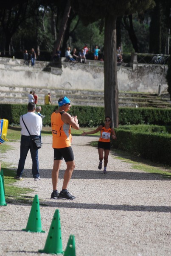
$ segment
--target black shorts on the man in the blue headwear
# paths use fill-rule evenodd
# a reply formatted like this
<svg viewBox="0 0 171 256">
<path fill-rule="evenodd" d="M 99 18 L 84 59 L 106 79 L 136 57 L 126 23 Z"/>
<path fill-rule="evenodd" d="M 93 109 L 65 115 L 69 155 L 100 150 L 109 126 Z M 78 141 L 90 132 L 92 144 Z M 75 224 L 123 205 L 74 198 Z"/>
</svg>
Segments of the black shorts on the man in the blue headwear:
<svg viewBox="0 0 171 256">
<path fill-rule="evenodd" d="M 65 160 L 65 162 L 70 162 L 74 160 L 74 154 L 71 147 L 66 148 L 53 148 L 54 150 L 54 160 Z"/>
</svg>

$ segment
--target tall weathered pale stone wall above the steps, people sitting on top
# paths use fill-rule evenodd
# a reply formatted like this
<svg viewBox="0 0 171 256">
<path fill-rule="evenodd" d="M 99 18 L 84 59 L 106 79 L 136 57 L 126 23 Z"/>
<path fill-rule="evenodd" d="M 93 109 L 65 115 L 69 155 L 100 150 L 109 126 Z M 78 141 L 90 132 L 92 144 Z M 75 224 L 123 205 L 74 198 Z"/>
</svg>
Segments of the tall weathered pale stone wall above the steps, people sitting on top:
<svg viewBox="0 0 171 256">
<path fill-rule="evenodd" d="M 104 66 L 102 61 L 87 64 L 68 63 L 62 59 L 62 67 L 51 67 L 49 62 L 36 61 L 34 67 L 21 59 L 0 58 L 0 85 L 47 89 L 104 90 Z M 118 68 L 119 91 L 158 93 L 166 90 L 165 75 L 168 66 L 134 64 Z"/>
</svg>

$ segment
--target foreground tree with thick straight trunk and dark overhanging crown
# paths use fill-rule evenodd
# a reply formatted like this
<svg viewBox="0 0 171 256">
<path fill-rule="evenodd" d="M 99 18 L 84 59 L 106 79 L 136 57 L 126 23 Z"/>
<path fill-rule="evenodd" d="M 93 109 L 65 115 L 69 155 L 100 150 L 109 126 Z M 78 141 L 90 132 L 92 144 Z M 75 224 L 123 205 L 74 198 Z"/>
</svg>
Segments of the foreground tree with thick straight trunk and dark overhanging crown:
<svg viewBox="0 0 171 256">
<path fill-rule="evenodd" d="M 104 106 L 105 115 L 118 127 L 118 81 L 116 60 L 116 20 L 154 6 L 154 0 L 70 0 L 85 25 L 104 18 Z"/>
</svg>

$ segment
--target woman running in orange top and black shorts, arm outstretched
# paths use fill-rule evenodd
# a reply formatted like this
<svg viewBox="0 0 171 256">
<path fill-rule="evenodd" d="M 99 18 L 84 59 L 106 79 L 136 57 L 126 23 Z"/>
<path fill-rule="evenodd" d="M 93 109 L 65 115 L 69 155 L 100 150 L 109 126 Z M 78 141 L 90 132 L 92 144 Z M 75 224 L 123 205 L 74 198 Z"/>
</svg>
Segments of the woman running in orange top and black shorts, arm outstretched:
<svg viewBox="0 0 171 256">
<path fill-rule="evenodd" d="M 105 124 L 98 126 L 93 131 L 83 132 L 81 135 L 87 135 L 87 134 L 95 134 L 98 131 L 100 131 L 100 138 L 98 141 L 98 155 L 99 155 L 99 165 L 98 169 L 101 170 L 102 163 L 104 159 L 104 174 L 107 174 L 107 163 L 108 163 L 108 156 L 110 151 L 110 137 L 112 139 L 116 140 L 116 134 L 114 129 L 110 126 L 111 118 L 110 116 L 105 117 Z M 104 156 L 103 156 L 104 154 Z"/>
</svg>

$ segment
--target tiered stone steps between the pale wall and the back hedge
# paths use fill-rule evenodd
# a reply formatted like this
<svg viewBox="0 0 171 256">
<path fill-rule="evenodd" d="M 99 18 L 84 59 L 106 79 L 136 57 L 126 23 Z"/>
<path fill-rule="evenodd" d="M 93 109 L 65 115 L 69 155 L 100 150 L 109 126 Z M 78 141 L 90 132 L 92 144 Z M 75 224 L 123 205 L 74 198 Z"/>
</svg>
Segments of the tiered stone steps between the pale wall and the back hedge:
<svg viewBox="0 0 171 256">
<path fill-rule="evenodd" d="M 0 86 L 0 102 L 11 104 L 27 104 L 28 93 L 32 88 Z M 44 104 L 45 94 L 51 93 L 53 105 L 57 105 L 58 99 L 66 95 L 72 105 L 104 106 L 104 92 L 101 90 L 71 90 L 71 89 L 47 89 L 42 87 L 36 89 L 38 104 Z M 171 102 L 168 93 L 163 93 L 160 97 L 156 93 L 119 93 L 120 107 L 155 107 L 170 108 Z"/>
</svg>

